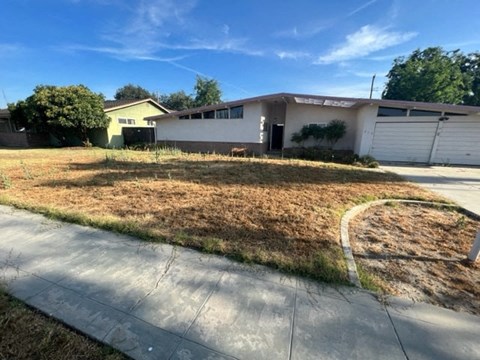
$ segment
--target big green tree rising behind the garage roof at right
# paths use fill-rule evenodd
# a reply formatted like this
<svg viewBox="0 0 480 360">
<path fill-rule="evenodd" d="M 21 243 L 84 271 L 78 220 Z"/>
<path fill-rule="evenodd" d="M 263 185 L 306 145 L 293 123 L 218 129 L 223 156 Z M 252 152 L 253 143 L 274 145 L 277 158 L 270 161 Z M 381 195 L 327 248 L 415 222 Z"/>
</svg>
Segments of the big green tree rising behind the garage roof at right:
<svg viewBox="0 0 480 360">
<path fill-rule="evenodd" d="M 396 58 L 387 78 L 384 99 L 461 104 L 469 92 L 469 76 L 462 73 L 458 51 L 440 47 Z"/>
</svg>

